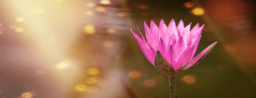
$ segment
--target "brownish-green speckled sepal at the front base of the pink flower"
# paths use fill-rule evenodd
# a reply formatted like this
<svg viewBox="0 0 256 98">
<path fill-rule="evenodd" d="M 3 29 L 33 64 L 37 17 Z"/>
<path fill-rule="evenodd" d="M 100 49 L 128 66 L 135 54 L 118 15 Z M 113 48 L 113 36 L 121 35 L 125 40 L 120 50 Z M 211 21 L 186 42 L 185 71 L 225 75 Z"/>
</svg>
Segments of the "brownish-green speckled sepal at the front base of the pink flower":
<svg viewBox="0 0 256 98">
<path fill-rule="evenodd" d="M 163 54 L 160 51 L 156 51 L 154 67 L 156 68 L 156 70 L 163 74 L 177 73 L 173 65 L 171 65 L 171 63 L 165 58 L 165 56 L 163 56 Z"/>
</svg>

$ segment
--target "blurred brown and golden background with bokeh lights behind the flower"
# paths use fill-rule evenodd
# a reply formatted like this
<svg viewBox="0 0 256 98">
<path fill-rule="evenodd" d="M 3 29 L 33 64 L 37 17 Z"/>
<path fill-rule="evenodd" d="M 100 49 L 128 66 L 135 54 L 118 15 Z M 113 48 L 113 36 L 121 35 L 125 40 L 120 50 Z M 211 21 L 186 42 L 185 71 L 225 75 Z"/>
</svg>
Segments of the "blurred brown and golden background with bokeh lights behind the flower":
<svg viewBox="0 0 256 98">
<path fill-rule="evenodd" d="M 130 34 L 145 21 L 205 24 L 178 98 L 256 98 L 255 0 L 0 0 L 0 98 L 168 98 Z"/>
</svg>

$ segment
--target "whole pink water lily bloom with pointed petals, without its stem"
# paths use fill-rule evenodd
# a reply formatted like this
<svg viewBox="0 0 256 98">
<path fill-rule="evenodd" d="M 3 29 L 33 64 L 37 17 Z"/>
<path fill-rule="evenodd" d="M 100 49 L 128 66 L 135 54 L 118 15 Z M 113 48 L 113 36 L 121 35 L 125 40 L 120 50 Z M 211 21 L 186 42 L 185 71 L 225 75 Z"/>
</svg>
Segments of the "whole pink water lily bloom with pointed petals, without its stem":
<svg viewBox="0 0 256 98">
<path fill-rule="evenodd" d="M 147 41 L 139 29 L 142 39 L 132 29 L 130 31 L 146 58 L 158 71 L 166 75 L 176 75 L 197 65 L 217 43 L 214 42 L 209 45 L 193 58 L 202 37 L 201 33 L 204 25 L 199 27 L 199 23 L 197 23 L 191 30 L 190 26 L 191 23 L 184 27 L 183 21 L 180 20 L 176 27 L 174 19 L 172 19 L 167 27 L 162 19 L 159 28 L 151 20 L 149 29 L 144 22 Z"/>
</svg>

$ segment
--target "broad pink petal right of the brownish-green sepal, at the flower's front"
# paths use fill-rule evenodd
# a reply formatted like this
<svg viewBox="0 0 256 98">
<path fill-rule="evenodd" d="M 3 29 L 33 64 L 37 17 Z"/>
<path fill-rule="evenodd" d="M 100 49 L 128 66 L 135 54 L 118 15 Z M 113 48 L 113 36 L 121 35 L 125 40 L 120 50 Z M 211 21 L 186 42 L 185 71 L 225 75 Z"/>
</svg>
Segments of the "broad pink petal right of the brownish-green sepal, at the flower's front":
<svg viewBox="0 0 256 98">
<path fill-rule="evenodd" d="M 175 65 L 175 69 L 181 69 L 182 67 L 184 67 L 185 65 L 187 65 L 191 59 L 192 53 L 193 53 L 193 47 L 190 47 L 188 49 L 186 49 L 182 55 L 179 57 L 179 60 L 177 61 L 176 65 Z"/>
</svg>

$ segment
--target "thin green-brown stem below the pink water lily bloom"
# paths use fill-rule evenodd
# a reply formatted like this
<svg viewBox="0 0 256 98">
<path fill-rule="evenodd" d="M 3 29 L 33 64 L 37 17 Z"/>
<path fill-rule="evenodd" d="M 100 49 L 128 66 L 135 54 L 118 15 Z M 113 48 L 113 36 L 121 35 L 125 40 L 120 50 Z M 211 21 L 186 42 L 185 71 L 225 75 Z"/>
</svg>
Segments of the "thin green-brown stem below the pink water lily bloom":
<svg viewBox="0 0 256 98">
<path fill-rule="evenodd" d="M 168 76 L 168 77 L 169 77 L 169 86 L 170 86 L 170 98 L 177 98 L 175 76 Z"/>
</svg>

